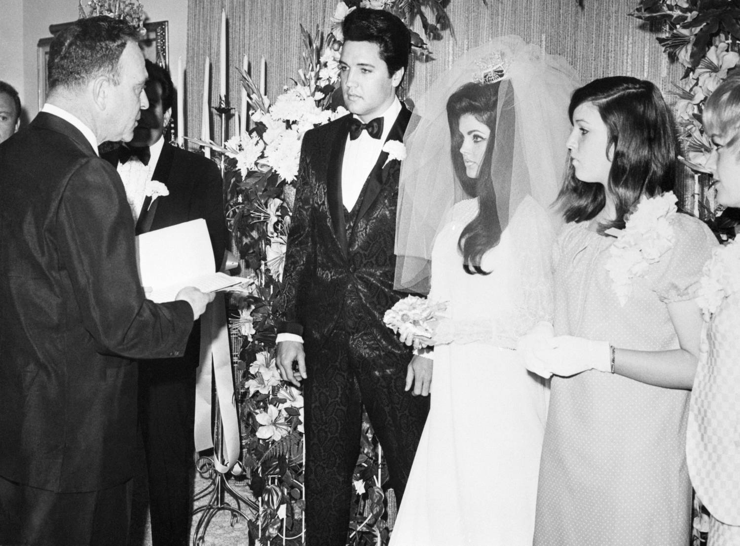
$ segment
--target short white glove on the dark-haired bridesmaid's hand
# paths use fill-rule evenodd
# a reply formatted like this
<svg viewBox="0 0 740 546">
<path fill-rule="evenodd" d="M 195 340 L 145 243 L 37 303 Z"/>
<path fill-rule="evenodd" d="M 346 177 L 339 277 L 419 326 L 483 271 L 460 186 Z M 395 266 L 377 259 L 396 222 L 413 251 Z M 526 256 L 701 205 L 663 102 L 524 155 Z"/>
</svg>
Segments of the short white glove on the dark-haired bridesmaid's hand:
<svg viewBox="0 0 740 546">
<path fill-rule="evenodd" d="M 575 336 L 557 336 L 549 340 L 550 348 L 534 350 L 534 358 L 556 376 L 570 377 L 586 370 L 611 372 L 609 342 Z"/>
</svg>

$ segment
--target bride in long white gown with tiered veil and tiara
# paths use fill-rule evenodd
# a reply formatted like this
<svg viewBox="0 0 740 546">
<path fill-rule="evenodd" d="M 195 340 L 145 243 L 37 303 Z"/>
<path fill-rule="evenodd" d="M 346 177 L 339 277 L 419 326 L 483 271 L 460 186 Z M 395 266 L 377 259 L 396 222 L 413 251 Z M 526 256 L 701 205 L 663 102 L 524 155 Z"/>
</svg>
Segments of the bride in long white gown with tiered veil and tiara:
<svg viewBox="0 0 740 546">
<path fill-rule="evenodd" d="M 448 307 L 434 349 L 414 357 L 433 360 L 431 410 L 391 546 L 532 543 L 548 385 L 516 347 L 552 316 L 548 207 L 577 86 L 565 61 L 507 36 L 414 110 L 396 284 L 425 292 L 431 269 L 429 298 Z"/>
</svg>

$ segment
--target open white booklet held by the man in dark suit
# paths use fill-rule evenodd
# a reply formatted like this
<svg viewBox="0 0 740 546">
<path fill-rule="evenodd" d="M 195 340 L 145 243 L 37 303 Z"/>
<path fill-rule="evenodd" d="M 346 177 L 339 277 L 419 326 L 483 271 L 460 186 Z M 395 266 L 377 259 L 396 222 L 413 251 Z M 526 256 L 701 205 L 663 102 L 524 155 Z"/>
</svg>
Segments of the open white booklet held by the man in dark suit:
<svg viewBox="0 0 740 546">
<path fill-rule="evenodd" d="M 203 219 L 142 233 L 136 250 L 141 286 L 153 302 L 172 302 L 186 286 L 215 292 L 247 280 L 216 273 Z"/>
</svg>

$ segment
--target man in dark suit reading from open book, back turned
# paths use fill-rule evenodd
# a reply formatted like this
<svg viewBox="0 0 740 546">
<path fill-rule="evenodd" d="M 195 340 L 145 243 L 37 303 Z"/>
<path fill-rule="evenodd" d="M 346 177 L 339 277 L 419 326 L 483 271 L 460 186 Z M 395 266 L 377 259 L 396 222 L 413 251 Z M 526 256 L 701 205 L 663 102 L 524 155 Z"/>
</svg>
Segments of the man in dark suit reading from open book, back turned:
<svg viewBox="0 0 740 546">
<path fill-rule="evenodd" d="M 98 144 L 147 108 L 138 30 L 81 19 L 47 104 L 0 144 L 0 544 L 126 545 L 137 366 L 180 356 L 208 296 L 146 299 L 121 178 Z"/>
</svg>

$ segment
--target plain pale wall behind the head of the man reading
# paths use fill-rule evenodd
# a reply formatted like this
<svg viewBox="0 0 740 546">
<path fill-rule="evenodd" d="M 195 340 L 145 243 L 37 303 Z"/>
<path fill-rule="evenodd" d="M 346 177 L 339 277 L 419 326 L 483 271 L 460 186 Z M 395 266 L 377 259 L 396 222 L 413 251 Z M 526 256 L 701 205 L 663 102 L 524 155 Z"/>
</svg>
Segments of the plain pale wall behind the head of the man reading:
<svg viewBox="0 0 740 546">
<path fill-rule="evenodd" d="M 82 4 L 87 6 L 87 1 Z M 142 4 L 149 21 L 169 22 L 169 60 L 174 70 L 178 56 L 185 61 L 187 0 L 144 0 Z M 51 24 L 74 21 L 77 16 L 77 0 L 0 0 L 0 79 L 19 91 L 27 114 L 24 121 L 38 113 L 38 40 L 51 36 Z"/>
</svg>

